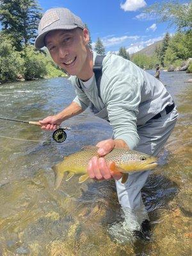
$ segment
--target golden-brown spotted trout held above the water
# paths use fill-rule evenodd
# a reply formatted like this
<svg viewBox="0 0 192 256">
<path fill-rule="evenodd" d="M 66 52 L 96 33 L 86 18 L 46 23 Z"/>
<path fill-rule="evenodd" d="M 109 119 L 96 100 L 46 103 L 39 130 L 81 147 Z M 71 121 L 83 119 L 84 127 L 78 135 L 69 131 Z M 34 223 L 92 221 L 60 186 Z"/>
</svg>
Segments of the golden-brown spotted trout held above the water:
<svg viewBox="0 0 192 256">
<path fill-rule="evenodd" d="M 68 172 L 66 180 L 71 179 L 75 174 L 83 174 L 79 177 L 79 183 L 88 179 L 88 162 L 93 156 L 98 156 L 97 150 L 97 147 L 86 147 L 52 166 L 56 177 L 55 189 L 59 188 L 65 172 Z M 122 183 L 127 180 L 129 172 L 152 170 L 157 166 L 156 157 L 126 148 L 113 148 L 111 152 L 104 156 L 104 159 L 106 159 L 107 163 L 113 162 L 109 166 L 113 172 L 116 171 L 123 174 Z"/>
</svg>

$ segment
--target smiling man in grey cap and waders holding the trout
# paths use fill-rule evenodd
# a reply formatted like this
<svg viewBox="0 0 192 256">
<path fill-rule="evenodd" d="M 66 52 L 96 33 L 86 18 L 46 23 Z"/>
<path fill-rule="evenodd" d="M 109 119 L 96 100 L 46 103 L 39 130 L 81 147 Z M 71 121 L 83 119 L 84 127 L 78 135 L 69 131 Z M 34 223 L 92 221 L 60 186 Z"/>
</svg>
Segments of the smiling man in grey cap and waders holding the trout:
<svg viewBox="0 0 192 256">
<path fill-rule="evenodd" d="M 160 81 L 114 54 L 107 54 L 103 60 L 99 97 L 93 74 L 97 54 L 90 50 L 88 42 L 88 30 L 70 10 L 53 8 L 40 20 L 35 47 L 47 47 L 54 62 L 70 74 L 76 89 L 76 98 L 70 106 L 40 120 L 40 124 L 42 129 L 54 130 L 91 103 L 94 115 L 109 121 L 113 139 L 97 144 L 100 157 L 93 157 L 88 163 L 88 174 L 97 180 L 114 178 L 120 204 L 125 211 L 143 212 L 142 216 L 136 214 L 141 224 L 147 219 L 141 188 L 149 172 L 130 174 L 122 184 L 121 173 L 111 172 L 102 156 L 114 147 L 134 148 L 156 156 L 175 126 L 177 110 Z"/>
</svg>

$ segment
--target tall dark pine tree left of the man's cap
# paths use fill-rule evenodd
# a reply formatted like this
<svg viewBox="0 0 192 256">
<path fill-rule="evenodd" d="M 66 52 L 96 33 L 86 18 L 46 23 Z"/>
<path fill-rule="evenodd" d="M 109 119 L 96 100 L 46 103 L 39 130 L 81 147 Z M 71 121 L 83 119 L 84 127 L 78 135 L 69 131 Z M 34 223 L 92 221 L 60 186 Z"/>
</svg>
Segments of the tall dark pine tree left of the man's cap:
<svg viewBox="0 0 192 256">
<path fill-rule="evenodd" d="M 34 42 L 36 29 L 42 17 L 40 6 L 36 0 L 1 0 L 0 22 L 4 35 L 13 41 L 17 51 L 22 44 Z"/>
</svg>

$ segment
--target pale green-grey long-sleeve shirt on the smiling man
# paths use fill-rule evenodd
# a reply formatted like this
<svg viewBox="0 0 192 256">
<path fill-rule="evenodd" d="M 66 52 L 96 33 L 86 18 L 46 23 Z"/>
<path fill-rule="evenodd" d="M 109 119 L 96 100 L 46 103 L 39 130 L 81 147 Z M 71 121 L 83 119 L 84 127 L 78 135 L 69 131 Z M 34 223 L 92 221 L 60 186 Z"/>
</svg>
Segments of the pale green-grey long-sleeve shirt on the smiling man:
<svg viewBox="0 0 192 256">
<path fill-rule="evenodd" d="M 93 63 L 96 56 L 93 52 Z M 92 102 L 95 114 L 109 120 L 114 138 L 124 140 L 132 149 L 140 140 L 137 126 L 145 125 L 150 118 L 172 104 L 173 99 L 161 81 L 129 60 L 108 53 L 102 65 L 101 99 L 95 77 L 88 88 L 80 81 L 81 90 L 77 77 L 71 76 L 77 95 L 74 102 L 83 109 Z"/>
</svg>

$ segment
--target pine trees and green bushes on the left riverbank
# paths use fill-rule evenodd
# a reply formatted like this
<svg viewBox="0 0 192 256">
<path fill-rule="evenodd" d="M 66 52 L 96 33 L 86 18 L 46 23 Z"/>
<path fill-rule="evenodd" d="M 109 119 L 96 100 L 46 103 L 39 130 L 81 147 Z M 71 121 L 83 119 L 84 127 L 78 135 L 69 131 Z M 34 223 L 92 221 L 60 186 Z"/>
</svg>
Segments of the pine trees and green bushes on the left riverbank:
<svg viewBox="0 0 192 256">
<path fill-rule="evenodd" d="M 0 82 L 66 76 L 46 50 L 36 50 L 38 22 L 42 17 L 36 0 L 0 2 Z"/>
</svg>

